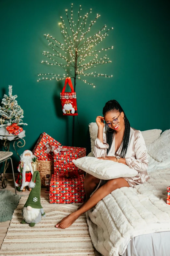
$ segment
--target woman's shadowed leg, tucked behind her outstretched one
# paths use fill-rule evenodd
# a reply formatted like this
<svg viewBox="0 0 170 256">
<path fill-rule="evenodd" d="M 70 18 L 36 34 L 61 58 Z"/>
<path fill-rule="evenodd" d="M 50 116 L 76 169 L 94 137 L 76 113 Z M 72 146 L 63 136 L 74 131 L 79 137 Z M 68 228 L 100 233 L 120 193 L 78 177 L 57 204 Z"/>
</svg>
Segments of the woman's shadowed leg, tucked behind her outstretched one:
<svg viewBox="0 0 170 256">
<path fill-rule="evenodd" d="M 86 193 L 86 199 L 78 209 L 80 209 L 87 202 L 87 200 L 89 200 L 92 192 L 97 188 L 99 182 L 100 182 L 100 179 L 92 176 L 89 173 L 86 173 L 86 176 L 84 179 L 84 190 Z"/>
</svg>

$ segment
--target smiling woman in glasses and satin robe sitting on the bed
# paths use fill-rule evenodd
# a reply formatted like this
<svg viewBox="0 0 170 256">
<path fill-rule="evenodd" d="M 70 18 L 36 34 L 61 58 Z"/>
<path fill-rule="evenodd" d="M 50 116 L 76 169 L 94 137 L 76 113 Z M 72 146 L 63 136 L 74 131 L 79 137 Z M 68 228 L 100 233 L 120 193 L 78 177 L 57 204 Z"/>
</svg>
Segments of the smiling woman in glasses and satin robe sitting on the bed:
<svg viewBox="0 0 170 256">
<path fill-rule="evenodd" d="M 130 127 L 123 109 L 116 100 L 106 103 L 103 116 L 96 118 L 98 134 L 95 140 L 94 156 L 128 165 L 129 168 L 137 170 L 138 174 L 133 178 L 102 180 L 87 173 L 84 180 L 86 200 L 77 211 L 57 223 L 58 229 L 68 228 L 81 214 L 89 211 L 115 189 L 134 187 L 149 179 L 147 148 L 141 131 Z M 104 127 L 106 131 L 103 133 Z"/>
</svg>

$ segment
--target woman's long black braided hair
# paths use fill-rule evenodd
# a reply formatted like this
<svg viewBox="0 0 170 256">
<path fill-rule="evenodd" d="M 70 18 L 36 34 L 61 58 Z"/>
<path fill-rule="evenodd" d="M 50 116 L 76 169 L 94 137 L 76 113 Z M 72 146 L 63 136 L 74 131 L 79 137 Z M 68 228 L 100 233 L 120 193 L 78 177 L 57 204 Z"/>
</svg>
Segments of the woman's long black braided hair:
<svg viewBox="0 0 170 256">
<path fill-rule="evenodd" d="M 103 116 L 106 115 L 107 112 L 111 112 L 114 110 L 118 110 L 120 113 L 123 112 L 123 109 L 121 108 L 120 104 L 116 100 L 109 100 L 106 102 L 105 107 L 103 108 Z M 125 158 L 128 144 L 129 144 L 129 137 L 130 137 L 130 123 L 124 113 L 124 124 L 125 124 L 125 130 L 124 130 L 124 136 L 123 136 L 123 145 L 120 153 L 120 157 Z M 111 148 L 112 140 L 113 140 L 113 129 L 110 129 L 110 132 L 107 131 L 106 123 L 105 123 L 105 129 L 106 129 L 106 142 L 109 145 L 109 148 L 107 149 L 107 154 Z"/>
</svg>

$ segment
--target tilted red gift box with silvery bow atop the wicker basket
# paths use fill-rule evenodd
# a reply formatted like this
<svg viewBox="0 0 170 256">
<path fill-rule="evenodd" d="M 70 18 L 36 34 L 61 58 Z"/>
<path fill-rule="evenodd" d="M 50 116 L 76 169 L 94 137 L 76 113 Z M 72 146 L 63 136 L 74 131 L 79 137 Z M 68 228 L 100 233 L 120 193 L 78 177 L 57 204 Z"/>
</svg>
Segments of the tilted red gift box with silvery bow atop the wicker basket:
<svg viewBox="0 0 170 256">
<path fill-rule="evenodd" d="M 61 143 L 43 132 L 33 149 L 33 154 L 38 158 L 38 160 L 51 161 L 54 158 L 51 149 L 57 148 L 58 146 L 61 146 Z"/>
</svg>

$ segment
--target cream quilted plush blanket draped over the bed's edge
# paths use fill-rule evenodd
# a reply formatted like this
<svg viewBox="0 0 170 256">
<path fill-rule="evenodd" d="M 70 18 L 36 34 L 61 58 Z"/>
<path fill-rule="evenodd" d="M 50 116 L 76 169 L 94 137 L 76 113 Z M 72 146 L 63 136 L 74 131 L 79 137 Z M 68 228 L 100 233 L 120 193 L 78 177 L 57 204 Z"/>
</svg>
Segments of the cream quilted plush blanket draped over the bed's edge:
<svg viewBox="0 0 170 256">
<path fill-rule="evenodd" d="M 123 254 L 135 236 L 170 230 L 170 205 L 166 204 L 170 168 L 149 176 L 135 188 L 116 189 L 87 213 L 92 243 L 104 256 Z"/>
</svg>

